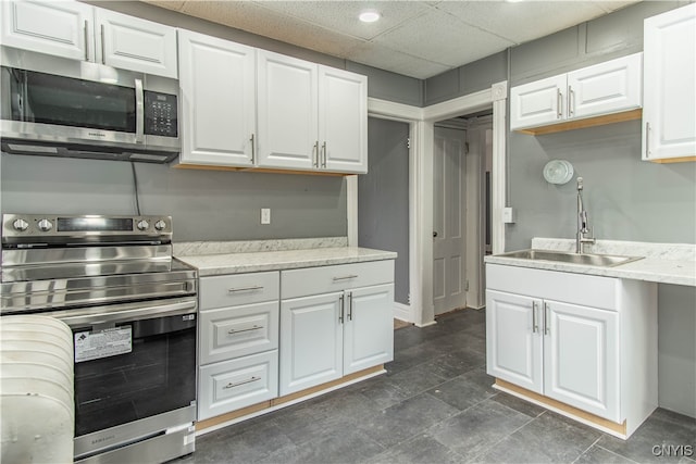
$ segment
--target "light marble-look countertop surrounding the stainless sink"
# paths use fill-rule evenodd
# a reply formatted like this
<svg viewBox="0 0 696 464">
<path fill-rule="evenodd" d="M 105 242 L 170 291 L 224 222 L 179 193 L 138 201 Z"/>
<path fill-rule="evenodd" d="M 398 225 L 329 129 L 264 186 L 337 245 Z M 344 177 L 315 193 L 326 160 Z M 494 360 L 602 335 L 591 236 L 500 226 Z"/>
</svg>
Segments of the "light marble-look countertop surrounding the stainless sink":
<svg viewBox="0 0 696 464">
<path fill-rule="evenodd" d="M 534 238 L 531 248 L 574 251 L 574 247 L 575 241 L 572 239 Z M 613 267 L 524 260 L 500 255 L 486 256 L 485 262 L 696 287 L 696 246 L 694 244 L 597 240 L 597 243 L 589 247 L 587 252 L 644 258 Z"/>
</svg>

